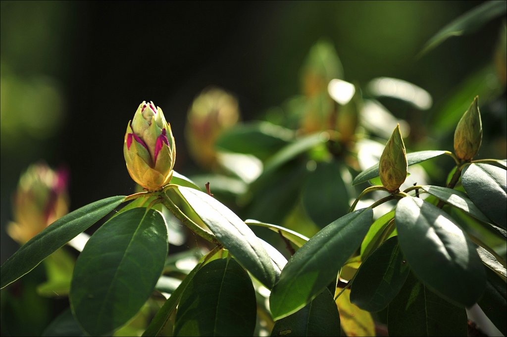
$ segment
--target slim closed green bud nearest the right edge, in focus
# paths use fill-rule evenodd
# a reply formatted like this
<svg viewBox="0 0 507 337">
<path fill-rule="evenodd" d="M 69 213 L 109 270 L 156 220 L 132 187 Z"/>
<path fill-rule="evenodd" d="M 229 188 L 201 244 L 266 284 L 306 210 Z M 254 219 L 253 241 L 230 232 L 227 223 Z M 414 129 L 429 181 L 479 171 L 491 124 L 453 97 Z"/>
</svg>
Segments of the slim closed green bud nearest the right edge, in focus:
<svg viewBox="0 0 507 337">
<path fill-rule="evenodd" d="M 454 152 L 461 160 L 470 160 L 479 151 L 482 141 L 482 122 L 477 99 L 465 111 L 454 131 Z"/>
</svg>

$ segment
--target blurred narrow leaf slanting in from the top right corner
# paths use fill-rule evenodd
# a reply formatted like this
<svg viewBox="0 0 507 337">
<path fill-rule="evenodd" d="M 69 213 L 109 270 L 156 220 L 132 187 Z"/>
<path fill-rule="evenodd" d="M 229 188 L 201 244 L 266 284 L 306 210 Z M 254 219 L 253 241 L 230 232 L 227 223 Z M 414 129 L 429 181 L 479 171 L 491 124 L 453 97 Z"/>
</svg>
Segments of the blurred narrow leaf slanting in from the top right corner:
<svg viewBox="0 0 507 337">
<path fill-rule="evenodd" d="M 488 1 L 451 21 L 424 46 L 420 54 L 425 54 L 451 36 L 461 36 L 478 30 L 492 19 L 505 14 L 505 1 Z"/>
</svg>

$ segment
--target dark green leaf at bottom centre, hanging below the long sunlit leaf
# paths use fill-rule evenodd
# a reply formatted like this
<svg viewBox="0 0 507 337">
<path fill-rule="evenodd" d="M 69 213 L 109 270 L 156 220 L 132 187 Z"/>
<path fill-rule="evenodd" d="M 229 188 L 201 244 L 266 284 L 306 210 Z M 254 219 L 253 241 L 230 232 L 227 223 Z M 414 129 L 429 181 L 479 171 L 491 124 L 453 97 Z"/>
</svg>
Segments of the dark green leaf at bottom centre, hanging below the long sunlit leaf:
<svg viewBox="0 0 507 337">
<path fill-rule="evenodd" d="M 234 258 L 202 267 L 182 294 L 175 336 L 251 336 L 257 302 L 248 273 Z"/>
</svg>

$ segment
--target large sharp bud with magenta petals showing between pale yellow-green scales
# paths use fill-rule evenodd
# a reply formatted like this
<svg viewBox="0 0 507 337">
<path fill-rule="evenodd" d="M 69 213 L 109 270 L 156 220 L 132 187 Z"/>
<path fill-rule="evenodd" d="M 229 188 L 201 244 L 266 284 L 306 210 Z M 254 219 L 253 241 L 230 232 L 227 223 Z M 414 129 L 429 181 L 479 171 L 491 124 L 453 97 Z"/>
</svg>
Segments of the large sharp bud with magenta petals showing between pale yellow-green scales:
<svg viewBox="0 0 507 337">
<path fill-rule="evenodd" d="M 132 179 L 149 191 L 167 185 L 172 178 L 176 147 L 171 125 L 162 109 L 143 101 L 129 121 L 123 155 Z"/>
</svg>

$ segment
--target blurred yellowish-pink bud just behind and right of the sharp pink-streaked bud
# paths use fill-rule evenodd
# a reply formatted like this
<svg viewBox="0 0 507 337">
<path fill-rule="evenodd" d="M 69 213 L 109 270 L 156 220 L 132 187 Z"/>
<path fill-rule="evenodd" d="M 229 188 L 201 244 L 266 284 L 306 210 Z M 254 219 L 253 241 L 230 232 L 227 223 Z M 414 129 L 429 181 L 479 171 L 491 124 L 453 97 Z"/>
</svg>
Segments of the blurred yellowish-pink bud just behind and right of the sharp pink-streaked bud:
<svg viewBox="0 0 507 337">
<path fill-rule="evenodd" d="M 185 136 L 189 153 L 203 168 L 216 163 L 215 141 L 239 120 L 238 101 L 218 88 L 203 91 L 188 111 Z"/>
</svg>

